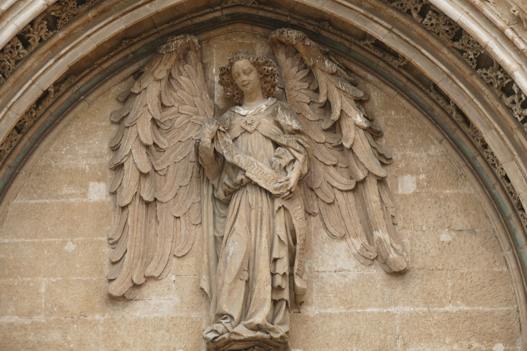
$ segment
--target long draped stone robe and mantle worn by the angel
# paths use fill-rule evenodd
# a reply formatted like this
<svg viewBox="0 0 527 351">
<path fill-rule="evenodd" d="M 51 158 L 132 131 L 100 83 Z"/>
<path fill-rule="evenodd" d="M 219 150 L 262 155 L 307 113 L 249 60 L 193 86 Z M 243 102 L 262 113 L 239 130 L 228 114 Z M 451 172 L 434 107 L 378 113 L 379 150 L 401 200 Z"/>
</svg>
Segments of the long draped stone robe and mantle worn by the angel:
<svg viewBox="0 0 527 351">
<path fill-rule="evenodd" d="M 310 141 L 289 105 L 275 98 L 250 111 L 233 107 L 218 123 L 213 146 L 199 148 L 204 169 L 201 287 L 211 297 L 212 327 L 221 334 L 214 341 L 287 342 L 289 274 L 298 228 L 283 200 L 260 186 L 260 179 L 251 179 L 249 171 L 227 161 L 222 143 L 232 140 L 246 159 L 279 175 L 297 168 L 304 177 Z"/>
</svg>

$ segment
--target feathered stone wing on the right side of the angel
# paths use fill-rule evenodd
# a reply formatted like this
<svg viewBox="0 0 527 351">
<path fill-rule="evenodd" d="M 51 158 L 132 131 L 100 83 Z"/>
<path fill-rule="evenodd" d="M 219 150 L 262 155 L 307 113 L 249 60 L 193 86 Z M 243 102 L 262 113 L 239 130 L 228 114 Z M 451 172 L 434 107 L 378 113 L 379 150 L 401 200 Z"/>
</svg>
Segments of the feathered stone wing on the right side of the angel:
<svg viewBox="0 0 527 351">
<path fill-rule="evenodd" d="M 375 142 L 372 135 L 382 130 L 355 102 L 367 94 L 329 49 L 306 34 L 282 28 L 270 34 L 269 43 L 284 74 L 287 101 L 314 144 L 304 186 L 306 212 L 318 213 L 331 237 L 346 239 L 359 262 L 377 258 L 387 272 L 405 270 L 383 167 L 392 155 Z"/>
</svg>

